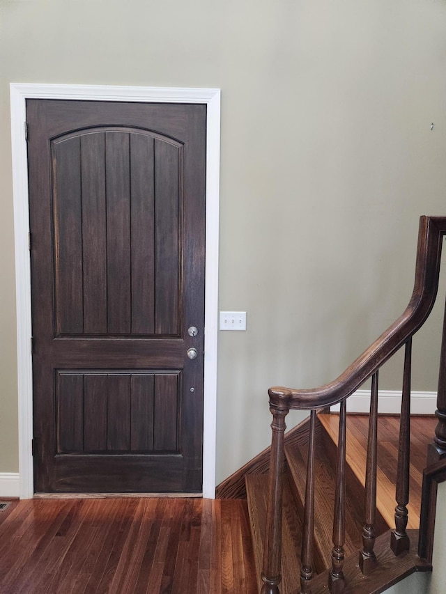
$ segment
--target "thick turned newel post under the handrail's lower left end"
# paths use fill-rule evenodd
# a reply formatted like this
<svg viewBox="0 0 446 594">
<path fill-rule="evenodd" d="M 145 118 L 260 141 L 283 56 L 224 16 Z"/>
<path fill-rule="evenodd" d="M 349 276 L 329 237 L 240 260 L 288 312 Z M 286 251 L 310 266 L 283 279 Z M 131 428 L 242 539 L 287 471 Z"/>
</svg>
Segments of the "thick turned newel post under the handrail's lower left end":
<svg viewBox="0 0 446 594">
<path fill-rule="evenodd" d="M 263 549 L 261 594 L 279 594 L 282 562 L 282 490 L 284 472 L 285 417 L 289 409 L 270 408 L 272 440 L 266 539 Z"/>
</svg>

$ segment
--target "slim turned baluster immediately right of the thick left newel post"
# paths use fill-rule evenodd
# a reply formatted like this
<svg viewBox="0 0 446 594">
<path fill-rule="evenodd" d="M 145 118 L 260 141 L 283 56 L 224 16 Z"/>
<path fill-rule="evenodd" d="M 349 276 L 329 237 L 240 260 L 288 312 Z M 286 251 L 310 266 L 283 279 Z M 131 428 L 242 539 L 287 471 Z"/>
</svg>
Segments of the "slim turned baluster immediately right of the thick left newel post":
<svg viewBox="0 0 446 594">
<path fill-rule="evenodd" d="M 312 410 L 309 427 L 307 485 L 305 486 L 304 533 L 300 558 L 300 594 L 311 594 L 311 581 L 313 578 L 315 426 L 316 411 Z"/>
</svg>

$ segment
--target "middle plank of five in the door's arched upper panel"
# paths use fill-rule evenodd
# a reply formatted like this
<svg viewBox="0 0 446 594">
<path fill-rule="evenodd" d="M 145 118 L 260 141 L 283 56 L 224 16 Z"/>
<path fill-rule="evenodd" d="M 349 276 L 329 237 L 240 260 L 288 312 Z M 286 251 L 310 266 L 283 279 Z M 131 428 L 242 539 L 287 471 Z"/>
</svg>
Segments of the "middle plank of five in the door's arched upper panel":
<svg viewBox="0 0 446 594">
<path fill-rule="evenodd" d="M 129 134 L 106 132 L 107 313 L 109 334 L 130 334 Z"/>
</svg>

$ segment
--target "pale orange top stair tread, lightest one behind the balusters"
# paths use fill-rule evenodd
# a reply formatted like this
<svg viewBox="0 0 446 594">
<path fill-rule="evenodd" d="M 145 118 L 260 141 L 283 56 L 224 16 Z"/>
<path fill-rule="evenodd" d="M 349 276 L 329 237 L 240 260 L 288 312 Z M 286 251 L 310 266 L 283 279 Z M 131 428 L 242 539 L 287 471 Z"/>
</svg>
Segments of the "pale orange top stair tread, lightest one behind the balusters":
<svg viewBox="0 0 446 594">
<path fill-rule="evenodd" d="M 330 435 L 330 438 L 337 444 L 339 416 L 336 414 L 319 414 L 318 419 L 321 421 L 325 431 Z M 378 441 L 378 447 L 383 447 L 380 441 Z M 358 439 L 357 430 L 355 430 L 355 425 L 349 416 L 347 416 L 346 463 L 351 467 L 357 479 L 360 480 L 360 483 L 365 485 L 367 449 L 362 445 L 362 440 Z M 395 525 L 395 485 L 387 478 L 379 465 L 376 472 L 376 484 L 376 508 L 378 508 L 387 525 L 392 527 Z M 417 499 L 415 499 L 415 502 L 409 501 L 407 508 L 407 527 L 408 529 L 417 529 L 420 524 L 420 505 L 419 503 L 417 505 Z"/>
</svg>

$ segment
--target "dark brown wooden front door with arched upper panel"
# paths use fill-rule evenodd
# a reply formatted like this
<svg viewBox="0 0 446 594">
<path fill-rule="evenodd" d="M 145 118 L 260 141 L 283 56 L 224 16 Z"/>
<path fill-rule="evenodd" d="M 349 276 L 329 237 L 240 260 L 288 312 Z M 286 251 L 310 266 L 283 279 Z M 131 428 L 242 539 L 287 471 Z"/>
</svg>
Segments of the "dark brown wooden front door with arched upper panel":
<svg viewBox="0 0 446 594">
<path fill-rule="evenodd" d="M 201 492 L 206 106 L 26 112 L 35 490 Z"/>
</svg>

